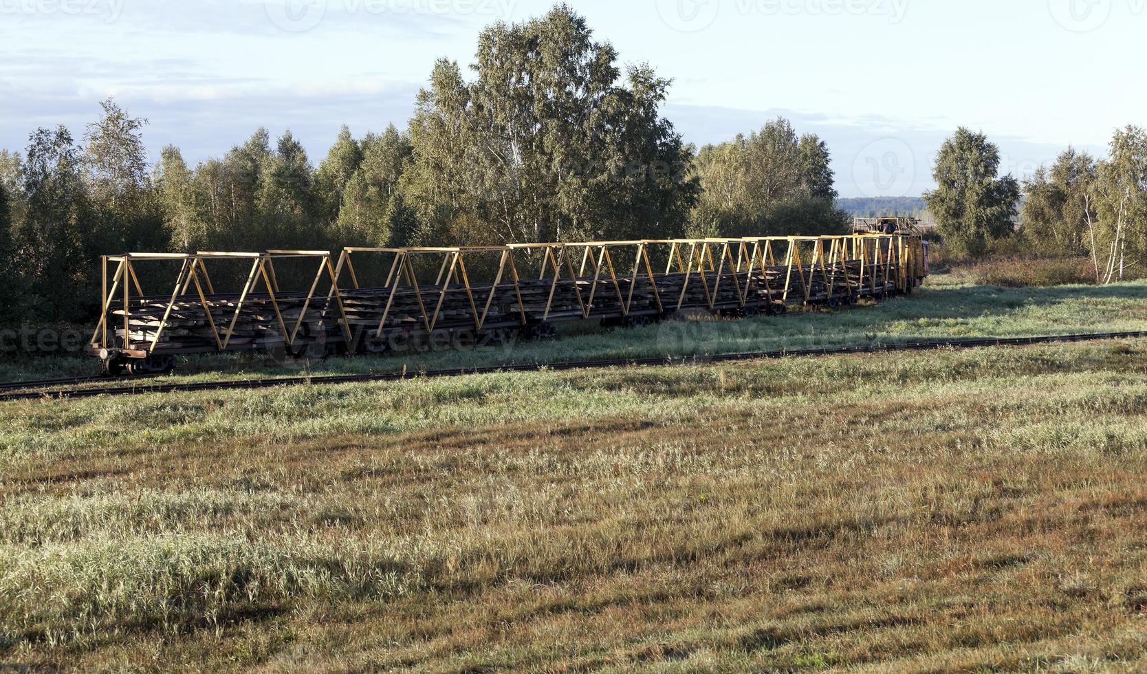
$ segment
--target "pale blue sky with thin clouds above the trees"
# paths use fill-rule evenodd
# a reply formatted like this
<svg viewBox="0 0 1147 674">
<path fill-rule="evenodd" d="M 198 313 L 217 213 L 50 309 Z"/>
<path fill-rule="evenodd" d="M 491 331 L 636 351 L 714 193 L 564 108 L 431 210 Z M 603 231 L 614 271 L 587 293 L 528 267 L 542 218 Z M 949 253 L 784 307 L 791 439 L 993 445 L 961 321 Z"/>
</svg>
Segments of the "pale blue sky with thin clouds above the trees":
<svg viewBox="0 0 1147 674">
<path fill-rule="evenodd" d="M 819 134 L 845 197 L 919 196 L 958 126 L 1001 172 L 1066 147 L 1105 152 L 1147 125 L 1147 0 L 584 0 L 622 63 L 672 79 L 687 142 L 777 116 Z M 436 58 L 473 61 L 496 21 L 547 0 L 0 0 L 0 148 L 64 124 L 77 138 L 115 96 L 149 120 L 153 158 L 224 155 L 259 126 L 318 164 L 343 124 L 405 128 Z"/>
</svg>

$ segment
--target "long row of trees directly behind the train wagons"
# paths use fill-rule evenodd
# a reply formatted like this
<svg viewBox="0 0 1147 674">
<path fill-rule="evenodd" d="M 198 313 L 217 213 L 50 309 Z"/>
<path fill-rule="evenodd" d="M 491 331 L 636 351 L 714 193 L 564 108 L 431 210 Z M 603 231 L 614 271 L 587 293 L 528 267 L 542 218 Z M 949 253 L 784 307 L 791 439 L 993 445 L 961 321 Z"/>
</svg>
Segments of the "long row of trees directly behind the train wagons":
<svg viewBox="0 0 1147 674">
<path fill-rule="evenodd" d="M 669 80 L 618 65 L 568 6 L 435 63 L 405 131 L 343 127 L 315 166 L 265 128 L 189 165 L 148 163 L 114 100 L 77 139 L 0 151 L 2 315 L 91 320 L 101 254 L 843 232 L 827 146 L 785 119 L 717 146 L 661 115 Z"/>
</svg>

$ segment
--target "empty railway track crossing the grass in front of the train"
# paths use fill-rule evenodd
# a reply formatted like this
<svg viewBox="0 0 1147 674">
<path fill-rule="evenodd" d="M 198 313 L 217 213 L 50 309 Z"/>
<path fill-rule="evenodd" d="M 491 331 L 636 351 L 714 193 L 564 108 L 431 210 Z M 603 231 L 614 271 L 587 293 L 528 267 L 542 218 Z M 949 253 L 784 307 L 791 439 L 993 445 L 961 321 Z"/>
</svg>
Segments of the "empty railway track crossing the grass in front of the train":
<svg viewBox="0 0 1147 674">
<path fill-rule="evenodd" d="M 462 375 L 482 375 L 493 373 L 514 371 L 543 371 L 543 370 L 577 370 L 595 368 L 616 367 L 655 367 L 655 366 L 687 366 L 705 365 L 719 362 L 733 362 L 744 360 L 768 360 L 779 358 L 798 358 L 817 355 L 842 355 L 853 353 L 884 353 L 895 351 L 935 351 L 941 348 L 976 348 L 984 346 L 1025 346 L 1032 344 L 1053 344 L 1068 342 L 1099 342 L 1107 339 L 1132 339 L 1147 338 L 1147 331 L 1136 332 L 1091 332 L 1084 335 L 1047 335 L 1039 337 L 985 337 L 972 339 L 934 339 L 922 342 L 899 342 L 894 344 L 871 344 L 865 346 L 838 346 L 825 348 L 799 348 L 799 350 L 777 350 L 758 351 L 749 353 L 731 353 L 720 355 L 695 355 L 686 358 L 634 358 L 634 359 L 611 359 L 611 360 L 587 360 L 556 363 L 531 363 L 531 365 L 502 365 L 478 368 L 458 368 L 427 370 L 418 373 L 387 373 L 387 374 L 362 374 L 362 375 L 331 375 L 319 377 L 276 377 L 259 379 L 233 379 L 224 382 L 195 382 L 195 383 L 156 383 L 154 381 L 140 381 L 135 377 L 110 378 L 100 377 L 73 377 L 64 379 L 41 379 L 38 382 L 13 382 L 0 384 L 0 401 L 11 400 L 50 400 L 50 399 L 79 399 L 94 398 L 96 395 L 139 395 L 143 393 L 174 393 L 180 391 L 223 391 L 243 389 L 271 389 L 275 386 L 292 386 L 302 384 L 331 385 L 351 384 L 366 382 L 397 382 L 403 379 L 423 377 L 457 377 Z M 93 386 L 85 389 L 57 389 L 48 390 L 52 386 L 68 386 L 80 383 L 108 382 L 107 386 Z M 124 383 L 132 382 L 132 383 Z M 32 390 L 36 389 L 36 390 Z"/>
</svg>

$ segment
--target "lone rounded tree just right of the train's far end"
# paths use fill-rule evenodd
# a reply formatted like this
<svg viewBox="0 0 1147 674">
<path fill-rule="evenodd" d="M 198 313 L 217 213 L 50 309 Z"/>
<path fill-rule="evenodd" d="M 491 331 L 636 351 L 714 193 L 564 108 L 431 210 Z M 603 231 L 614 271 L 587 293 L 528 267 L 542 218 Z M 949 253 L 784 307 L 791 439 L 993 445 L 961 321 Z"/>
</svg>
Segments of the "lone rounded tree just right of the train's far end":
<svg viewBox="0 0 1147 674">
<path fill-rule="evenodd" d="M 994 238 L 1013 230 L 1020 185 L 998 178 L 999 148 L 982 133 L 960 127 L 936 157 L 936 189 L 924 194 L 945 243 L 970 257 L 986 252 Z"/>
</svg>

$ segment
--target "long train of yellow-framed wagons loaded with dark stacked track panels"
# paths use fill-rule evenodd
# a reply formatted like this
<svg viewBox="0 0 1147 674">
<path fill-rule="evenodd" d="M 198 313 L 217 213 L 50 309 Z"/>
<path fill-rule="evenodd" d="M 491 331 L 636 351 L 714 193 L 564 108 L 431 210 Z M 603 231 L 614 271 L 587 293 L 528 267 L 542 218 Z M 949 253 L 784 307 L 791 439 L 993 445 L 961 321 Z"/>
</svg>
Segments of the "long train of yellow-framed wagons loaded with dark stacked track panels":
<svg viewBox="0 0 1147 674">
<path fill-rule="evenodd" d="M 245 267 L 231 292 L 209 271 L 223 260 Z M 284 260 L 314 264 L 309 288 L 280 287 L 275 264 Z M 102 261 L 103 312 L 89 352 L 109 371 L 132 374 L 169 369 L 181 353 L 381 353 L 409 340 L 545 337 L 572 320 L 633 326 L 680 311 L 835 307 L 911 292 L 928 273 L 927 246 L 903 234 L 346 248 L 337 261 L 327 251 Z M 136 266 L 164 262 L 179 265 L 170 291 L 145 293 Z M 380 279 L 364 277 L 367 266 Z"/>
</svg>

